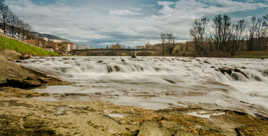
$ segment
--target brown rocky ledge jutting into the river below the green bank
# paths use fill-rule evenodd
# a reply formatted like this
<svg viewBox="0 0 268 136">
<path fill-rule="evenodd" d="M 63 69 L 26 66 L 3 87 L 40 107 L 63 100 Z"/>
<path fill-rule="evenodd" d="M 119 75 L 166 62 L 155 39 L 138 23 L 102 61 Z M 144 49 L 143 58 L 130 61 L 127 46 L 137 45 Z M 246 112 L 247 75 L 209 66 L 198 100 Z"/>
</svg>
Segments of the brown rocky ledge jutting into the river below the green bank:
<svg viewBox="0 0 268 136">
<path fill-rule="evenodd" d="M 7 53 L 7 51 L 5 52 Z M 9 53 L 9 56 L 0 53 L 0 87 L 32 89 L 45 85 L 68 84 L 55 77 L 13 63 L 16 54 Z"/>
</svg>

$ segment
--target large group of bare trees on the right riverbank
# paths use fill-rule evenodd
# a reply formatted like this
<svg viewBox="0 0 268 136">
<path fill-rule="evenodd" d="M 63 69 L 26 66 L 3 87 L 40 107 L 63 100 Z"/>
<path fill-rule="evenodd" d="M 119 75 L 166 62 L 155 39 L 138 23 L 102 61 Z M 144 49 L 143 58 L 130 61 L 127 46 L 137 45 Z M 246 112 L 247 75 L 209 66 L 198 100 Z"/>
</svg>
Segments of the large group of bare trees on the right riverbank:
<svg viewBox="0 0 268 136">
<path fill-rule="evenodd" d="M 228 15 L 213 19 L 196 19 L 190 30 L 199 56 L 224 52 L 231 56 L 237 51 L 265 50 L 268 42 L 268 15 L 232 20 Z"/>
</svg>

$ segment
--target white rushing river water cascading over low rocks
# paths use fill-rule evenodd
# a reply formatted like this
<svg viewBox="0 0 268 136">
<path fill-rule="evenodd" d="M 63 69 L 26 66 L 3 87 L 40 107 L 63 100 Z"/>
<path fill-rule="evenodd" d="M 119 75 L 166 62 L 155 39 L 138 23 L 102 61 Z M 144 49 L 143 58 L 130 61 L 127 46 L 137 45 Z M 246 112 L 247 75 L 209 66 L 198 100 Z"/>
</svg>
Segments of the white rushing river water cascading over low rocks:
<svg viewBox="0 0 268 136">
<path fill-rule="evenodd" d="M 22 65 L 73 83 L 38 89 L 55 96 L 44 100 L 100 100 L 149 109 L 202 107 L 268 113 L 268 60 L 37 57 Z"/>
</svg>

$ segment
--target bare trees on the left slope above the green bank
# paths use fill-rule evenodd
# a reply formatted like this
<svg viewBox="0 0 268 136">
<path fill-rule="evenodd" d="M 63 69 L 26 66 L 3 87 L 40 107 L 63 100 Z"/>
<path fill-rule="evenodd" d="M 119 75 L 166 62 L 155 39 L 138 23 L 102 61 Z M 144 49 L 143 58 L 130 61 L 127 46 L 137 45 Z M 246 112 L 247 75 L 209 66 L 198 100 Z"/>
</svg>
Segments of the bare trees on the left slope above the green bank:
<svg viewBox="0 0 268 136">
<path fill-rule="evenodd" d="M 30 25 L 16 16 L 5 4 L 5 0 L 0 0 L 0 28 L 5 35 L 27 39 L 30 36 Z"/>
</svg>

